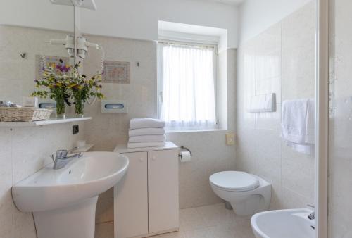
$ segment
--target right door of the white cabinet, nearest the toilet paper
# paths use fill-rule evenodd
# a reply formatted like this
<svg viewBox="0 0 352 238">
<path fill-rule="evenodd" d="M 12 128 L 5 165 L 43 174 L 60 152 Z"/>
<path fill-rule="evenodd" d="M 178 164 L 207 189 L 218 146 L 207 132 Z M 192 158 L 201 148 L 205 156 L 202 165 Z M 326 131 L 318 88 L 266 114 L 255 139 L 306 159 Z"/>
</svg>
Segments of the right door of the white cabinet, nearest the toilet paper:
<svg viewBox="0 0 352 238">
<path fill-rule="evenodd" d="M 149 233 L 179 225 L 178 151 L 148 152 Z"/>
</svg>

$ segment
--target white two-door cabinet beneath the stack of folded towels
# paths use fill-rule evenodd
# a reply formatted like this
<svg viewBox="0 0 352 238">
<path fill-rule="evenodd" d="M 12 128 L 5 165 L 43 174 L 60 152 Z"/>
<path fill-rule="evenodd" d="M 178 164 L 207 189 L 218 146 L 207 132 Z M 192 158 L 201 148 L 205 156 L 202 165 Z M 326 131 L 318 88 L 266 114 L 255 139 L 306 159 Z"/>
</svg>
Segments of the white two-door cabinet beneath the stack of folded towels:
<svg viewBox="0 0 352 238">
<path fill-rule="evenodd" d="M 115 238 L 147 237 L 178 230 L 178 148 L 165 147 L 115 151 L 130 159 L 127 174 L 115 186 Z"/>
</svg>

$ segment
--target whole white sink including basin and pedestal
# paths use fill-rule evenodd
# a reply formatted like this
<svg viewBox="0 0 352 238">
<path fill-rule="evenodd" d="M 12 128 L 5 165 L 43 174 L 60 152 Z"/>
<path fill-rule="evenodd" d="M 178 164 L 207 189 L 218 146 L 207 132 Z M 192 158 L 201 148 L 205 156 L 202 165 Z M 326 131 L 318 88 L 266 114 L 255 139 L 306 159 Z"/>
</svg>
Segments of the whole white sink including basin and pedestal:
<svg viewBox="0 0 352 238">
<path fill-rule="evenodd" d="M 94 238 L 98 195 L 117 184 L 128 158 L 113 152 L 87 152 L 65 168 L 52 164 L 15 184 L 13 201 L 32 212 L 38 238 Z"/>
</svg>

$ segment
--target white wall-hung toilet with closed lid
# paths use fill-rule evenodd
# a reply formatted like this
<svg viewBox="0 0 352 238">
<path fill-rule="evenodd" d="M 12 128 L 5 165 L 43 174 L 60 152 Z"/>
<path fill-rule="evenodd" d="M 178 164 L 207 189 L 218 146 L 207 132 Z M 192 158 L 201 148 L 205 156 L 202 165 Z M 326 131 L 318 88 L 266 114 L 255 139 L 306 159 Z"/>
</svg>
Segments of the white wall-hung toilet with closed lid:
<svg viewBox="0 0 352 238">
<path fill-rule="evenodd" d="M 223 171 L 209 177 L 221 199 L 229 202 L 237 215 L 253 215 L 268 210 L 271 184 L 263 178 L 241 171 Z"/>
</svg>

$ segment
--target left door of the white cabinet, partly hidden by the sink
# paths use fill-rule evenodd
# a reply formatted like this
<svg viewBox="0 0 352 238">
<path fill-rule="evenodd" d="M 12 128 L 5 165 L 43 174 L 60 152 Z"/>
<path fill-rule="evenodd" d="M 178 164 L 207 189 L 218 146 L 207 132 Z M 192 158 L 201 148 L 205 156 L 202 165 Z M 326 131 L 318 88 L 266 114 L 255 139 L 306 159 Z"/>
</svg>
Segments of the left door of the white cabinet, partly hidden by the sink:
<svg viewBox="0 0 352 238">
<path fill-rule="evenodd" d="M 115 238 L 148 234 L 147 153 L 126 153 L 125 156 L 130 165 L 114 188 Z"/>
</svg>

